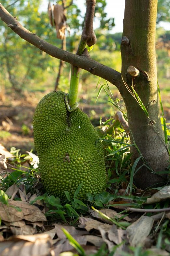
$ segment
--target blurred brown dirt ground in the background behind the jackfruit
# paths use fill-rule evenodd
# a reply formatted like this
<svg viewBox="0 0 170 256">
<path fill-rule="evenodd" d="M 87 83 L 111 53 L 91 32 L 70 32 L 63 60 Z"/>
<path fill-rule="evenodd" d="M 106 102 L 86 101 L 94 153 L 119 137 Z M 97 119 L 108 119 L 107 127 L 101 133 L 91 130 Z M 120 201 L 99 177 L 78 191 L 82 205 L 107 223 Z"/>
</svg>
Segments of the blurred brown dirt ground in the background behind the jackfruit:
<svg viewBox="0 0 170 256">
<path fill-rule="evenodd" d="M 169 88 L 169 85 L 167 86 Z M 170 123 L 170 92 L 163 92 L 165 88 L 163 84 L 160 88 L 162 91 L 164 117 L 166 118 L 166 123 Z M 11 147 L 15 147 L 16 149 L 21 149 L 21 153 L 31 149 L 35 153 L 32 121 L 35 107 L 44 95 L 44 93 L 42 95 L 38 94 L 38 98 L 35 94 L 26 95 L 24 99 L 20 100 L 10 99 L 6 96 L 6 100 L 0 101 L 0 143 L 7 150 L 10 151 Z M 114 96 L 117 97 L 118 95 L 115 94 Z M 108 108 L 110 108 L 110 105 L 108 105 Z M 91 118 L 94 126 L 99 125 L 100 116 L 102 116 L 103 121 L 106 119 L 104 113 L 104 108 L 107 108 L 106 103 L 99 105 L 80 104 L 79 108 L 89 117 L 91 112 L 95 111 L 94 117 Z"/>
</svg>

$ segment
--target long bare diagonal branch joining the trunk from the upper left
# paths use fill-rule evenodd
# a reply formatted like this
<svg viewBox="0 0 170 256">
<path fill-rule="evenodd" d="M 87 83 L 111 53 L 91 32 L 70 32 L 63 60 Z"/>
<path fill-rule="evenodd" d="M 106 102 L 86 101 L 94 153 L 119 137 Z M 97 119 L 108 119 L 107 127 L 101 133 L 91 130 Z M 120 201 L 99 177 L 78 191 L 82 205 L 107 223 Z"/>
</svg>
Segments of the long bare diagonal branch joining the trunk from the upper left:
<svg viewBox="0 0 170 256">
<path fill-rule="evenodd" d="M 102 77 L 110 83 L 114 84 L 119 89 L 121 74 L 118 71 L 107 67 L 95 60 L 86 58 L 85 56 L 78 56 L 73 53 L 69 53 L 50 43 L 47 43 L 46 41 L 39 38 L 35 33 L 31 33 L 29 30 L 24 28 L 12 15 L 10 15 L 10 13 L 2 6 L 1 3 L 0 17 L 2 21 L 11 27 L 11 29 L 22 39 L 35 45 L 40 50 L 48 53 L 54 58 L 64 60 L 74 66 L 85 69 L 95 76 Z M 95 68 L 92 69 L 93 66 L 95 66 Z"/>
</svg>

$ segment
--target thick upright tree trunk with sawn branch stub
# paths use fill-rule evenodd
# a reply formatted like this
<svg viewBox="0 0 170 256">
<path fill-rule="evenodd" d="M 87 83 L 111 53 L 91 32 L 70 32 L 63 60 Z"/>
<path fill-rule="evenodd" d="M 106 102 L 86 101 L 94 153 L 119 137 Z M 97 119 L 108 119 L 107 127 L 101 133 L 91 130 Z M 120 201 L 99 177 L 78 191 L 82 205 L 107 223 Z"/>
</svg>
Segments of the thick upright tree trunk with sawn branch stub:
<svg viewBox="0 0 170 256">
<path fill-rule="evenodd" d="M 119 89 L 127 109 L 131 143 L 135 141 L 151 169 L 154 172 L 160 172 L 167 170 L 169 154 L 164 142 L 158 107 L 155 56 L 156 15 L 157 0 L 126 0 L 121 43 L 123 79 L 120 81 Z M 130 66 L 140 71 L 138 76 L 133 77 L 127 72 Z M 132 83 L 135 85 L 134 89 L 145 105 L 151 122 L 130 94 L 123 80 L 131 91 Z M 139 157 L 139 153 L 134 146 L 131 147 L 131 153 L 133 164 Z M 142 164 L 140 160 L 138 167 Z M 134 180 L 137 187 L 144 189 L 167 180 L 167 174 L 161 176 L 151 174 L 149 169 L 143 166 Z"/>
</svg>

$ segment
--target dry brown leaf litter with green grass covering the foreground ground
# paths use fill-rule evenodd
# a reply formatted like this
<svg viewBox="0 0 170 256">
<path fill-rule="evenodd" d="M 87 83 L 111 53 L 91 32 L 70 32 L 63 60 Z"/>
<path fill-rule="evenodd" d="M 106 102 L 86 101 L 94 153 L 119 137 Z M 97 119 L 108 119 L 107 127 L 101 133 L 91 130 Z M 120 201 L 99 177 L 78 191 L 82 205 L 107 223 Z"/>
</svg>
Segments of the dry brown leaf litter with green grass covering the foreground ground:
<svg viewBox="0 0 170 256">
<path fill-rule="evenodd" d="M 159 212 L 168 206 L 170 186 L 136 188 L 130 196 L 124 182 L 116 196 L 88 194 L 82 202 L 77 191 L 73 199 L 66 193 L 64 203 L 45 193 L 35 154 L 21 159 L 0 149 L 0 256 L 170 255 L 170 211 Z M 157 213 L 147 212 L 153 208 Z"/>
</svg>

